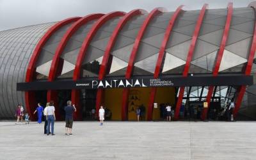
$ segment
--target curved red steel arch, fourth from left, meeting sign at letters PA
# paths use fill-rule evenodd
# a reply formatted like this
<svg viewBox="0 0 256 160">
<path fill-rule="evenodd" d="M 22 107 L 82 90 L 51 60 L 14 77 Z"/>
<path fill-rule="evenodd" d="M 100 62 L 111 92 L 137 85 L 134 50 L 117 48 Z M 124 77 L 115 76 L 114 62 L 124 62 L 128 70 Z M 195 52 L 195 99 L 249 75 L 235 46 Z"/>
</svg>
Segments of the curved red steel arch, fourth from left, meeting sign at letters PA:
<svg viewBox="0 0 256 160">
<path fill-rule="evenodd" d="M 132 10 L 131 12 L 127 13 L 126 15 L 124 15 L 124 17 L 122 17 L 122 19 L 118 22 L 118 24 L 116 25 L 116 28 L 114 29 L 109 42 L 106 46 L 106 50 L 104 52 L 104 56 L 102 59 L 102 63 L 100 65 L 100 72 L 99 72 L 99 80 L 102 80 L 105 75 L 106 75 L 106 70 L 108 68 L 108 64 L 109 64 L 109 56 L 110 56 L 110 52 L 112 47 L 115 44 L 116 38 L 118 37 L 118 33 L 122 30 L 122 28 L 125 26 L 125 24 L 134 16 L 136 15 L 141 15 L 145 13 L 145 10 Z M 97 97 L 96 97 L 96 106 L 97 108 L 99 108 L 99 105 L 102 102 L 102 95 L 103 95 L 104 91 L 103 89 L 98 89 L 97 90 Z M 122 117 L 123 117 L 124 113 L 122 113 Z"/>
</svg>

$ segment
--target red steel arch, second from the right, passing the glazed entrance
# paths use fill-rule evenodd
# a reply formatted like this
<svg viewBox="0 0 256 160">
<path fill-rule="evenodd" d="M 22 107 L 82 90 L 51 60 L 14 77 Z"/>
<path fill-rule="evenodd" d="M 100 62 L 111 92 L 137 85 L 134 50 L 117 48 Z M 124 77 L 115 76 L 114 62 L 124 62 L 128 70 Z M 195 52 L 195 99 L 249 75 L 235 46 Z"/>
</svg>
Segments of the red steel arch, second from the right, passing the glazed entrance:
<svg viewBox="0 0 256 160">
<path fill-rule="evenodd" d="M 221 59 L 222 59 L 223 52 L 224 52 L 224 49 L 226 46 L 226 42 L 228 40 L 228 33 L 229 33 L 229 29 L 230 29 L 230 24 L 231 24 L 232 13 L 233 13 L 233 3 L 228 3 L 227 20 L 226 20 L 226 24 L 225 24 L 225 29 L 223 31 L 221 45 L 220 45 L 220 49 L 218 51 L 218 56 L 216 59 L 216 64 L 215 64 L 214 70 L 212 72 L 212 76 L 218 76 Z M 208 103 L 208 106 L 211 102 L 213 89 L 214 89 L 214 86 L 209 86 L 209 90 L 208 90 L 207 97 L 206 97 L 206 102 Z M 205 120 L 205 118 L 207 116 L 207 112 L 208 112 L 208 108 L 204 108 L 204 111 L 202 113 L 202 120 Z"/>
</svg>

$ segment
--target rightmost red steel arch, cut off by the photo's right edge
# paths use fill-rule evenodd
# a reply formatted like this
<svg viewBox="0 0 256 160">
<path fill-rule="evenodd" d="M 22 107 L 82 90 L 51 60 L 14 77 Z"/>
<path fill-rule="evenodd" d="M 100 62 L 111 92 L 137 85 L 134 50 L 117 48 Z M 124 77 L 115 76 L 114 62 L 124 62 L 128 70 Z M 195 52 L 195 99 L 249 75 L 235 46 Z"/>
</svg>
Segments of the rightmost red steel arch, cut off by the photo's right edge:
<svg viewBox="0 0 256 160">
<path fill-rule="evenodd" d="M 251 6 L 251 7 L 253 8 L 253 10 L 255 12 L 254 6 Z M 244 72 L 244 74 L 246 76 L 250 76 L 250 74 L 251 74 L 253 59 L 254 59 L 254 56 L 255 56 L 255 49 L 256 49 L 256 21 L 254 23 L 253 40 L 252 40 L 252 44 L 251 44 L 251 48 L 250 48 L 250 54 L 249 54 L 248 62 L 247 62 L 245 72 Z M 237 112 L 238 112 L 238 110 L 241 106 L 245 91 L 246 91 L 246 86 L 241 86 L 240 89 L 239 89 L 239 93 L 237 95 L 237 98 L 236 98 L 235 109 L 233 111 L 234 117 L 236 117 Z"/>
</svg>

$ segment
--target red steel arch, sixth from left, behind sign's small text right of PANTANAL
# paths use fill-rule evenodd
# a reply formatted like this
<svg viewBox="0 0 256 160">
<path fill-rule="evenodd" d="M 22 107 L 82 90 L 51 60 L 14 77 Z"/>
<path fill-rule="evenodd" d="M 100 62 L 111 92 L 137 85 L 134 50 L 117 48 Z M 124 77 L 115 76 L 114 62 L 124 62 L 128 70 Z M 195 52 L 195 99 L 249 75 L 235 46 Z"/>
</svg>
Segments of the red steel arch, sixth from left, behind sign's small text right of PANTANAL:
<svg viewBox="0 0 256 160">
<path fill-rule="evenodd" d="M 160 50 L 159 50 L 159 54 L 158 54 L 158 58 L 157 58 L 157 63 L 156 63 L 156 68 L 155 68 L 155 72 L 154 72 L 154 78 L 159 77 L 159 74 L 161 72 L 161 65 L 163 63 L 163 58 L 164 58 L 164 50 L 166 48 L 166 45 L 168 43 L 168 40 L 170 38 L 170 34 L 172 31 L 172 28 L 174 26 L 175 20 L 177 19 L 177 17 L 179 16 L 180 11 L 182 10 L 182 6 L 179 6 L 175 12 L 172 15 L 172 18 L 169 20 L 169 24 L 166 28 L 166 31 L 164 33 L 164 38 L 163 38 L 163 42 L 161 44 Z M 157 88 L 153 87 L 151 88 L 150 91 L 150 98 L 149 98 L 149 102 L 148 102 L 148 120 L 152 120 L 152 113 L 153 113 L 153 104 L 154 104 L 154 99 L 155 99 L 155 95 L 156 95 L 156 91 Z"/>
</svg>

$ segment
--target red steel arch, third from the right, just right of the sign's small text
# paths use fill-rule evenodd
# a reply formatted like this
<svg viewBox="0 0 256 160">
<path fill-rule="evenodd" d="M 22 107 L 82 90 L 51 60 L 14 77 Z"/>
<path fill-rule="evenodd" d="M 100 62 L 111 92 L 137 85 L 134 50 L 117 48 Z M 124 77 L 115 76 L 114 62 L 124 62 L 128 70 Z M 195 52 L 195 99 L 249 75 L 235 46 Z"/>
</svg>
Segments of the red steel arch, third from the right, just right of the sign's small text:
<svg viewBox="0 0 256 160">
<path fill-rule="evenodd" d="M 205 11 L 206 11 L 207 7 L 208 7 L 208 4 L 204 4 L 204 6 L 202 7 L 202 10 L 200 11 L 198 20 L 196 22 L 195 31 L 193 33 L 191 44 L 189 46 L 187 61 L 186 61 L 184 71 L 182 74 L 183 77 L 188 76 L 190 62 L 192 60 L 193 53 L 195 51 L 196 40 L 198 38 L 198 34 L 199 34 L 200 28 L 202 26 L 202 22 L 203 22 Z M 176 108 L 175 108 L 175 113 L 174 113 L 174 118 L 176 120 L 179 118 L 179 111 L 180 111 L 180 105 L 182 103 L 182 99 L 183 99 L 183 95 L 184 95 L 184 88 L 185 88 L 184 86 L 180 87 L 179 97 L 178 97 L 178 100 L 176 103 Z"/>
</svg>

